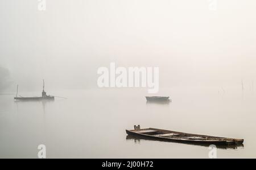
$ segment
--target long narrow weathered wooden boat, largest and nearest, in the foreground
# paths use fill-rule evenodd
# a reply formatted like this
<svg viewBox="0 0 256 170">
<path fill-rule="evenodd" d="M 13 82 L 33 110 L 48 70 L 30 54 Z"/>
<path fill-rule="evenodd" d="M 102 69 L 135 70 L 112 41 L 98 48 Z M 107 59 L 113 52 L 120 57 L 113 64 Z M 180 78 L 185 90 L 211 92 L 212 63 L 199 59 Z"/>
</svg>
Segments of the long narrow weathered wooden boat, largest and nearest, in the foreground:
<svg viewBox="0 0 256 170">
<path fill-rule="evenodd" d="M 239 145 L 243 143 L 243 139 L 223 138 L 217 136 L 207 136 L 198 134 L 188 134 L 171 130 L 162 130 L 158 128 L 142 128 L 134 125 L 134 130 L 126 130 L 128 135 L 141 136 L 143 138 L 162 140 L 176 143 L 189 143 L 199 145 Z"/>
</svg>

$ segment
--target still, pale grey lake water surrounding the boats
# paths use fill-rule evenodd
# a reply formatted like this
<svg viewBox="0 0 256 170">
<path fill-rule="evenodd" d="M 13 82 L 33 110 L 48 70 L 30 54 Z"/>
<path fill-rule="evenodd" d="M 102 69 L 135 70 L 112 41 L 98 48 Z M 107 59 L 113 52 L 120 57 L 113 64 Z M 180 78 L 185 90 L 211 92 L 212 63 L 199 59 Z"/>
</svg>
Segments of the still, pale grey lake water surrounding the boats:
<svg viewBox="0 0 256 170">
<path fill-rule="evenodd" d="M 55 101 L 15 102 L 0 95 L 0 157 L 32 157 L 45 144 L 47 158 L 208 158 L 209 149 L 126 139 L 133 125 L 243 138 L 243 147 L 218 148 L 217 157 L 256 157 L 256 92 L 241 88 L 171 88 L 169 104 L 147 103 L 146 89 L 49 92 Z M 40 96 L 40 92 L 22 93 Z"/>
</svg>

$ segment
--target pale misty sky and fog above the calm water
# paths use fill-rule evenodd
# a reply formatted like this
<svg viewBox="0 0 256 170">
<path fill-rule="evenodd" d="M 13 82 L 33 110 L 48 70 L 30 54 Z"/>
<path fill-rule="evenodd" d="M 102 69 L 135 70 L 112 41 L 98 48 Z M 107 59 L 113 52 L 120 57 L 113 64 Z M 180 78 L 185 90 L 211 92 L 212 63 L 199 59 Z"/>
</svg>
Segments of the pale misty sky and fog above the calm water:
<svg viewBox="0 0 256 170">
<path fill-rule="evenodd" d="M 13 88 L 97 87 L 98 67 L 159 67 L 160 84 L 256 82 L 256 1 L 0 1 L 0 71 Z M 0 73 L 1 83 L 3 73 Z M 6 81 L 6 79 L 5 79 Z M 15 90 L 15 88 L 14 88 Z"/>
</svg>

